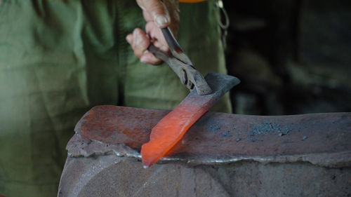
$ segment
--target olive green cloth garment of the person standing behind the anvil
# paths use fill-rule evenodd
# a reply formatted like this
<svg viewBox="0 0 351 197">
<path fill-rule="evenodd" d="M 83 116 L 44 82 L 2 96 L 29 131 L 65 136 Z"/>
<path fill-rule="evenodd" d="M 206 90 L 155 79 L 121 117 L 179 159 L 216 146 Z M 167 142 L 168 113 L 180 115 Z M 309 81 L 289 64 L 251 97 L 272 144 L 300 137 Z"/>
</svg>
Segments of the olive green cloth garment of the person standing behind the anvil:
<svg viewBox="0 0 351 197">
<path fill-rule="evenodd" d="M 180 45 L 206 75 L 225 73 L 214 1 L 180 5 Z M 0 194 L 56 196 L 65 145 L 99 104 L 173 109 L 187 95 L 166 66 L 125 40 L 143 28 L 133 0 L 0 3 Z M 216 111 L 230 112 L 226 95 Z"/>
</svg>

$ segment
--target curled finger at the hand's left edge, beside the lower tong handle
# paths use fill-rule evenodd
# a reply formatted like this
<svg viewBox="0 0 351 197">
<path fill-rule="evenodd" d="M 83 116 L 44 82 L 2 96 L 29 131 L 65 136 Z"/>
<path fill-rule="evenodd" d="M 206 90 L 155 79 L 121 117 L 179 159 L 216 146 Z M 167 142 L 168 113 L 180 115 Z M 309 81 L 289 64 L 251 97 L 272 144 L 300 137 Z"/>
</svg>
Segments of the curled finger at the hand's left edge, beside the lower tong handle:
<svg viewBox="0 0 351 197">
<path fill-rule="evenodd" d="M 128 36 L 127 38 L 131 39 L 131 37 Z M 133 48 L 134 55 L 140 58 L 147 50 L 147 47 L 150 45 L 150 39 L 146 36 L 143 30 L 137 28 L 134 29 L 133 38 L 131 40 L 131 47 Z"/>
</svg>

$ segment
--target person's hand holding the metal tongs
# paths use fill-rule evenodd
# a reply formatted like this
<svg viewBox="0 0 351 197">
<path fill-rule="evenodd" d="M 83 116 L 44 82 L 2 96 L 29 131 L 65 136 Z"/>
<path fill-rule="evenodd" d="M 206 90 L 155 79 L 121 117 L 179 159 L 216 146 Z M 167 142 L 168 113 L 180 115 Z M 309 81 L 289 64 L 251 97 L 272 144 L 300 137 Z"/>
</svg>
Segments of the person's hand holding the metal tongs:
<svg viewBox="0 0 351 197">
<path fill-rule="evenodd" d="M 136 28 L 133 33 L 126 36 L 126 40 L 133 48 L 136 57 L 140 62 L 146 64 L 161 64 L 161 60 L 154 54 L 147 51 L 147 47 L 152 43 L 160 50 L 168 51 L 168 45 L 160 28 L 169 27 L 176 36 L 179 25 L 178 0 L 136 0 L 140 8 L 143 9 L 145 21 L 145 32 Z"/>
</svg>

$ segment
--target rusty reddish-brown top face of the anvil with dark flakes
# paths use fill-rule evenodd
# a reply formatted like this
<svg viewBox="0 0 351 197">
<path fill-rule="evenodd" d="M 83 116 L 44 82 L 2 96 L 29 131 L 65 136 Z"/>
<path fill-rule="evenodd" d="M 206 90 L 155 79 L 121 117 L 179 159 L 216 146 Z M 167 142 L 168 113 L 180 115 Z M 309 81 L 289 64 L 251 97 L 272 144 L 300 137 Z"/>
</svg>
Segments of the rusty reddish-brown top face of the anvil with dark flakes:
<svg viewBox="0 0 351 197">
<path fill-rule="evenodd" d="M 151 129 L 167 113 L 131 107 L 94 107 L 76 126 L 77 135 L 89 141 L 81 146 L 91 151 L 82 152 L 76 139 L 67 145 L 69 155 L 114 152 L 140 158 L 141 145 L 149 140 Z M 351 113 L 248 116 L 208 112 L 162 160 L 194 165 L 245 160 L 308 161 L 327 167 L 345 167 L 351 166 L 350 142 Z"/>
</svg>

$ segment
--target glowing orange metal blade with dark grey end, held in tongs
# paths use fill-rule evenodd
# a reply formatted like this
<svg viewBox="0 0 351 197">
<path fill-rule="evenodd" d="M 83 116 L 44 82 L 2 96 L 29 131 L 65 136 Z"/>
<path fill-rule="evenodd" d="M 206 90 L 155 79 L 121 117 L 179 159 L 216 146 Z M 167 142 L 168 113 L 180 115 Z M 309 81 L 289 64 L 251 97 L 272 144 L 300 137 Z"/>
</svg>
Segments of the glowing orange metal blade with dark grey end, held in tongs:
<svg viewBox="0 0 351 197">
<path fill-rule="evenodd" d="M 150 142 L 141 147 L 145 168 L 159 161 L 185 135 L 187 130 L 215 104 L 239 79 L 225 74 L 210 73 L 205 77 L 213 93 L 198 95 L 193 90 L 178 107 L 152 128 Z"/>
</svg>

